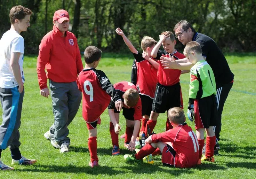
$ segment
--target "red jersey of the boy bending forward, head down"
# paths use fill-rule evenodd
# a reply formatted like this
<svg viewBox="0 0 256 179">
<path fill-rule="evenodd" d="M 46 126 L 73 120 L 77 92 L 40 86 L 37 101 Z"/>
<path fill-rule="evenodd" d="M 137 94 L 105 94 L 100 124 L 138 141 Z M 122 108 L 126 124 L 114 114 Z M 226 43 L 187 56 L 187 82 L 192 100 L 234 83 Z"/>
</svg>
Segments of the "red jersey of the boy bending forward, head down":
<svg viewBox="0 0 256 179">
<path fill-rule="evenodd" d="M 121 97 L 122 101 L 124 101 L 123 94 L 127 89 L 133 88 L 136 89 L 136 86 L 132 84 L 131 82 L 117 82 L 114 84 L 114 88 L 117 90 L 118 95 Z M 128 108 L 126 105 L 123 105 L 123 107 Z M 141 107 L 141 99 L 139 98 L 138 103 L 132 107 L 134 108 L 134 121 L 140 121 L 142 119 L 142 107 Z"/>
</svg>

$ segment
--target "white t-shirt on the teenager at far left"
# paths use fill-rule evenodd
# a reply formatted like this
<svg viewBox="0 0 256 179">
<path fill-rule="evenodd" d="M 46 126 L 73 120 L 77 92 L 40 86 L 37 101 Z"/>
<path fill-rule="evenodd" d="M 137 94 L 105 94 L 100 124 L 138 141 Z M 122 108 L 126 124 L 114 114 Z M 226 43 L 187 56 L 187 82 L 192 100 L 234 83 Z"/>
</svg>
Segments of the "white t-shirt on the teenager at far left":
<svg viewBox="0 0 256 179">
<path fill-rule="evenodd" d="M 23 59 L 24 39 L 15 30 L 8 30 L 0 40 L 0 87 L 14 88 L 18 86 L 10 65 L 11 53 L 20 52 L 19 65 L 22 82 L 24 83 Z"/>
</svg>

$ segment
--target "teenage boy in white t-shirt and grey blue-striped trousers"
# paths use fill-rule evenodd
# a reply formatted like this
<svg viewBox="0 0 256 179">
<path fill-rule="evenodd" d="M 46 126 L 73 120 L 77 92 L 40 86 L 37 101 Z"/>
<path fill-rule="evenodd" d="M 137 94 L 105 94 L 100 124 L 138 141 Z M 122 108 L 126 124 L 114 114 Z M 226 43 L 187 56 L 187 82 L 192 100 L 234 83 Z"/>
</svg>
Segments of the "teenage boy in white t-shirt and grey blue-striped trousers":
<svg viewBox="0 0 256 179">
<path fill-rule="evenodd" d="M 24 96 L 23 73 L 24 39 L 20 32 L 30 26 L 31 10 L 23 6 L 12 7 L 11 28 L 0 40 L 0 100 L 3 107 L 3 123 L 0 125 L 0 158 L 2 150 L 8 146 L 12 164 L 31 165 L 30 160 L 20 154 L 20 117 Z M 13 170 L 0 160 L 1 170 Z"/>
</svg>

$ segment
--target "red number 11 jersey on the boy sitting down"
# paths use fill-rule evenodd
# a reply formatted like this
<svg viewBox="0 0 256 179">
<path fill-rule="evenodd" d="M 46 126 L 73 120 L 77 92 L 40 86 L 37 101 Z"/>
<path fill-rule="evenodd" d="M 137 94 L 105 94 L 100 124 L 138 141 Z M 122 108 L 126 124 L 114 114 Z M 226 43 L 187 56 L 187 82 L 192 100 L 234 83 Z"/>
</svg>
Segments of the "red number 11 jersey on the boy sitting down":
<svg viewBox="0 0 256 179">
<path fill-rule="evenodd" d="M 187 123 L 163 133 L 152 135 L 152 142 L 171 142 L 176 152 L 174 166 L 180 168 L 194 167 L 199 159 L 199 145 L 196 134 Z"/>
</svg>

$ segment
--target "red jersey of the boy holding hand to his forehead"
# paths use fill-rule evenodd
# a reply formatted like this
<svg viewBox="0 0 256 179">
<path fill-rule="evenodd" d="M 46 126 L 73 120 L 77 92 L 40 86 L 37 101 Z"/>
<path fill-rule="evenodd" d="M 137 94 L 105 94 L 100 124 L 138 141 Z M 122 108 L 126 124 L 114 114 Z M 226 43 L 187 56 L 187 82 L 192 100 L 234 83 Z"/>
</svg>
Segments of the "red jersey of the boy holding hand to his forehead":
<svg viewBox="0 0 256 179">
<path fill-rule="evenodd" d="M 159 59 L 159 54 L 161 53 L 161 56 L 169 57 L 169 54 L 166 51 L 158 51 L 157 58 Z M 175 50 L 174 53 L 171 54 L 176 59 L 182 59 L 186 58 L 182 53 Z M 157 59 L 156 58 L 156 59 Z M 157 81 L 164 86 L 172 86 L 180 82 L 180 73 L 181 70 L 174 70 L 174 69 L 164 69 L 164 66 L 158 60 L 159 68 L 157 71 Z"/>
</svg>

